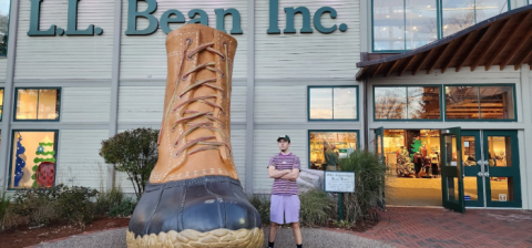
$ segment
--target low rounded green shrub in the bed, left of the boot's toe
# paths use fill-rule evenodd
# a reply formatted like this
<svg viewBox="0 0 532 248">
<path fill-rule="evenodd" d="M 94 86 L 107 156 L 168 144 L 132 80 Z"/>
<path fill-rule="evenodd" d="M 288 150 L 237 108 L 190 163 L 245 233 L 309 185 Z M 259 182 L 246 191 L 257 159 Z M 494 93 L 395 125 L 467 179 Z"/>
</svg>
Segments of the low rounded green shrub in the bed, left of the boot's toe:
<svg viewBox="0 0 532 248">
<path fill-rule="evenodd" d="M 64 187 L 58 197 L 58 213 L 62 220 L 84 227 L 94 218 L 94 203 L 91 202 L 98 195 L 96 189 L 88 187 Z"/>
</svg>

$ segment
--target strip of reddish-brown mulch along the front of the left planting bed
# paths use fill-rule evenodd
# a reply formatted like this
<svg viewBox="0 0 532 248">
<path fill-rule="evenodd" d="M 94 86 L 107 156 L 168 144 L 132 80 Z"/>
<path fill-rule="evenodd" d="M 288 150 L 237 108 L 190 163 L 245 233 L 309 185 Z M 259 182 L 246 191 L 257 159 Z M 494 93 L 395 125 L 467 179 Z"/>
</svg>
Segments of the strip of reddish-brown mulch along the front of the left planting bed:
<svg viewBox="0 0 532 248">
<path fill-rule="evenodd" d="M 0 231 L 0 247 L 21 248 L 38 245 L 43 241 L 68 238 L 72 235 L 83 235 L 89 232 L 127 227 L 129 218 L 96 218 L 88 224 L 84 229 L 54 223 L 45 227 L 30 229 L 29 226 L 18 226 L 14 229 Z"/>
</svg>

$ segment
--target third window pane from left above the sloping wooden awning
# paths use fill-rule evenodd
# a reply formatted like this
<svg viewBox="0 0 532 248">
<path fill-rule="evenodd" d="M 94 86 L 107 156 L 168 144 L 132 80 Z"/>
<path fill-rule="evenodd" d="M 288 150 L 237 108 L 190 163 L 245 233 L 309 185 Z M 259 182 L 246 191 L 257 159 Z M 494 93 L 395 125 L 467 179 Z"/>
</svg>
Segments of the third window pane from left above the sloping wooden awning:
<svg viewBox="0 0 532 248">
<path fill-rule="evenodd" d="M 444 37 L 474 24 L 473 0 L 442 0 L 442 7 Z"/>
</svg>

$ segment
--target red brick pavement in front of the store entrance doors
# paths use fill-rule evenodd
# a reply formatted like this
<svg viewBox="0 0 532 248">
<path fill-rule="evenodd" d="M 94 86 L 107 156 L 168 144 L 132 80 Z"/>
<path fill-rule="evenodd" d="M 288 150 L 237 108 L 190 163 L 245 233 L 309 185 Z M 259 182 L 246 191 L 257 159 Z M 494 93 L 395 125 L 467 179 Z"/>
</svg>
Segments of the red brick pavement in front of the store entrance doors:
<svg viewBox="0 0 532 248">
<path fill-rule="evenodd" d="M 397 247 L 532 247 L 532 211 L 390 207 L 362 234 Z"/>
</svg>

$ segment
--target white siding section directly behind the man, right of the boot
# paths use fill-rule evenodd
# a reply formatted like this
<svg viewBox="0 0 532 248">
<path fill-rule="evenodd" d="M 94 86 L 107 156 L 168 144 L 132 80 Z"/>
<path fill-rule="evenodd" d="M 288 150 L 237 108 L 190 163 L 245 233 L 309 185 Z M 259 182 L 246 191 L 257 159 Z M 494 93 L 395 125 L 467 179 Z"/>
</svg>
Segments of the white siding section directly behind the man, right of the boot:
<svg viewBox="0 0 532 248">
<path fill-rule="evenodd" d="M 299 157 L 301 167 L 308 167 L 308 137 L 306 130 L 255 130 L 255 151 L 253 182 L 254 193 L 272 193 L 274 179 L 268 177 L 268 162 L 279 153 L 276 138 L 287 134 L 290 136 L 290 151 Z"/>
</svg>

